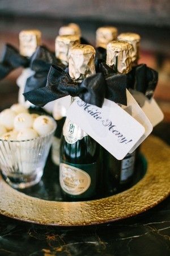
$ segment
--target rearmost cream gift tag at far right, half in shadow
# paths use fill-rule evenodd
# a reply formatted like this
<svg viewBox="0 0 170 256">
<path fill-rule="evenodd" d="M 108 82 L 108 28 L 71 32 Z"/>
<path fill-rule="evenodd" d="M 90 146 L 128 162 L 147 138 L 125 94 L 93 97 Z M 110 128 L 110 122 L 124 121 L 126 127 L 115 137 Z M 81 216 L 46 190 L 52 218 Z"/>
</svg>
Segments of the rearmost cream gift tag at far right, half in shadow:
<svg viewBox="0 0 170 256">
<path fill-rule="evenodd" d="M 158 123 L 163 120 L 164 114 L 154 98 L 148 100 L 148 98 L 143 93 L 137 92 L 136 90 L 130 90 L 130 93 L 138 102 L 139 106 L 141 106 L 143 112 L 146 114 L 153 127 L 158 125 Z"/>
</svg>

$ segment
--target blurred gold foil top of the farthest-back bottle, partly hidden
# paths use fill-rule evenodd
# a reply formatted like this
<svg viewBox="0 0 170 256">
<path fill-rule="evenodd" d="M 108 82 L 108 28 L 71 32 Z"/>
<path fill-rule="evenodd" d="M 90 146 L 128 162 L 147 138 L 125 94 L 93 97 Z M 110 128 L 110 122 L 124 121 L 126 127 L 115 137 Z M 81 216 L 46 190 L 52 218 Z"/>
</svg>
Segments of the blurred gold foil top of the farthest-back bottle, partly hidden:
<svg viewBox="0 0 170 256">
<path fill-rule="evenodd" d="M 78 24 L 69 23 L 66 26 L 59 28 L 59 35 L 78 35 L 81 36 L 81 30 Z"/>
</svg>

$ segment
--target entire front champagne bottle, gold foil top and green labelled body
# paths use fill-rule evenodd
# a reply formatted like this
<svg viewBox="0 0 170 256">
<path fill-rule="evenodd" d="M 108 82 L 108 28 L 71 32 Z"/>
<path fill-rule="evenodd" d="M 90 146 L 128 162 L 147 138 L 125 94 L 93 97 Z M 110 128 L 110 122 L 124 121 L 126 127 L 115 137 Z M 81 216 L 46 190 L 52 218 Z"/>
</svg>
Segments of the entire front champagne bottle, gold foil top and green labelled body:
<svg viewBox="0 0 170 256">
<path fill-rule="evenodd" d="M 95 73 L 95 49 L 80 44 L 71 48 L 69 74 L 77 82 Z M 72 98 L 72 101 L 74 99 Z M 86 200 L 96 195 L 100 173 L 100 145 L 66 118 L 60 147 L 59 183 L 67 199 Z"/>
</svg>

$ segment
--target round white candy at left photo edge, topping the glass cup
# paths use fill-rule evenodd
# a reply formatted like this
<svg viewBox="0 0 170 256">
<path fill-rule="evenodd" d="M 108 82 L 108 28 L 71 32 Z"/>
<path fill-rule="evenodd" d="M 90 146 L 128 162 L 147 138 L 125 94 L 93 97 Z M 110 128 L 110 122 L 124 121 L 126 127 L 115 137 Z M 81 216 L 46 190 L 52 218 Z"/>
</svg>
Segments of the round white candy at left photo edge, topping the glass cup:
<svg viewBox="0 0 170 256">
<path fill-rule="evenodd" d="M 5 126 L 7 130 L 14 128 L 14 118 L 16 113 L 11 109 L 5 109 L 0 113 L 0 123 Z"/>
</svg>

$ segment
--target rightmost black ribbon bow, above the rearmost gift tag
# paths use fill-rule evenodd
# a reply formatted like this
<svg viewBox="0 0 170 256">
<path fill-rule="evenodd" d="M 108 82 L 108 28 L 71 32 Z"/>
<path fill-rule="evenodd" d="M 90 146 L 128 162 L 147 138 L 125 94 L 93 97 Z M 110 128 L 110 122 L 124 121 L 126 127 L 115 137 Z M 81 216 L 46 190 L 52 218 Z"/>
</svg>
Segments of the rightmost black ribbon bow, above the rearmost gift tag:
<svg viewBox="0 0 170 256">
<path fill-rule="evenodd" d="M 128 89 L 137 90 L 151 99 L 158 83 L 157 71 L 147 67 L 146 64 L 139 64 L 132 68 L 127 77 Z"/>
</svg>

